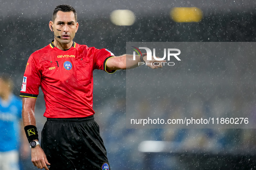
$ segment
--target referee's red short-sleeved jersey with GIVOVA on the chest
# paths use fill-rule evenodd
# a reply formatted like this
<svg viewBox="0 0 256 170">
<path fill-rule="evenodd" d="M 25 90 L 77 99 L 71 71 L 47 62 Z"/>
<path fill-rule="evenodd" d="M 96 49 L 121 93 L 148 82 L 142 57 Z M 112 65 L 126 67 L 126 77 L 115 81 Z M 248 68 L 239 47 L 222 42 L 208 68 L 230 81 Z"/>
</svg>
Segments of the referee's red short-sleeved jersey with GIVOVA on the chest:
<svg viewBox="0 0 256 170">
<path fill-rule="evenodd" d="M 37 50 L 28 60 L 20 96 L 37 98 L 39 87 L 44 94 L 48 118 L 86 117 L 93 110 L 93 70 L 106 70 L 114 57 L 107 49 L 73 43 L 69 50 L 53 45 Z"/>
</svg>

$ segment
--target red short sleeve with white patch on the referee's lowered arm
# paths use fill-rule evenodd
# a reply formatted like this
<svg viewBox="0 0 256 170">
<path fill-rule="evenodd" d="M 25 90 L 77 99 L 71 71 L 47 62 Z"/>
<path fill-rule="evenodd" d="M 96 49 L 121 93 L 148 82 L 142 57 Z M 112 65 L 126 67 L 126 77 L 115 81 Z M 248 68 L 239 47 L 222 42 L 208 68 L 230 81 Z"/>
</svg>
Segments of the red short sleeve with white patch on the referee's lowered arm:
<svg viewBox="0 0 256 170">
<path fill-rule="evenodd" d="M 39 72 L 39 61 L 32 54 L 26 65 L 20 96 L 37 98 L 40 85 L 41 73 Z"/>
</svg>

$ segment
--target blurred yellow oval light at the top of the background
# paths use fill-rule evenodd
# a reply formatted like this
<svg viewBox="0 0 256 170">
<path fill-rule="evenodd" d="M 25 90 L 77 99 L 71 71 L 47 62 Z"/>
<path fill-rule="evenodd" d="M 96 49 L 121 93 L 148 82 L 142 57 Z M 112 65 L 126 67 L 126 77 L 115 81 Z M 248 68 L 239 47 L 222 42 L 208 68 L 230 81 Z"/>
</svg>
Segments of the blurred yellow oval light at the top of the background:
<svg viewBox="0 0 256 170">
<path fill-rule="evenodd" d="M 170 17 L 175 22 L 200 22 L 203 13 L 196 7 L 175 7 L 171 9 Z"/>
</svg>

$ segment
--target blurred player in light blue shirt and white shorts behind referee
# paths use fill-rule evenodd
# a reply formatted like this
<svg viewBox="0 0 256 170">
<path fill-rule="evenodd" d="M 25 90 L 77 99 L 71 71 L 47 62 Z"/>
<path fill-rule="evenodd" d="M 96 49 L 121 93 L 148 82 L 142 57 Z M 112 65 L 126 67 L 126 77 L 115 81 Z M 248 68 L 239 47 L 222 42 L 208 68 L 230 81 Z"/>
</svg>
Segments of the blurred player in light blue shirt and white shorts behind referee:
<svg viewBox="0 0 256 170">
<path fill-rule="evenodd" d="M 0 75 L 0 170 L 19 170 L 21 111 L 22 101 L 13 94 L 12 80 Z M 27 155 L 28 149 L 22 148 Z"/>
</svg>

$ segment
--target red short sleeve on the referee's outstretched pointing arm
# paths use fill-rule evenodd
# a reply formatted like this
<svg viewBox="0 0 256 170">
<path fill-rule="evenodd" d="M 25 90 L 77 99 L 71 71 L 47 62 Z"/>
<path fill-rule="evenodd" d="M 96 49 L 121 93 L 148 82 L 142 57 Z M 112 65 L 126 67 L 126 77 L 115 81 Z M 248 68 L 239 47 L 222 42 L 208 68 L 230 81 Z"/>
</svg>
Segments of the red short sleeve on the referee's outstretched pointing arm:
<svg viewBox="0 0 256 170">
<path fill-rule="evenodd" d="M 106 63 L 107 60 L 111 57 L 115 57 L 113 53 L 111 53 L 110 50 L 107 50 L 106 48 L 103 49 L 96 49 L 94 52 L 94 69 L 101 69 L 108 73 L 113 73 L 116 70 L 107 70 Z"/>
</svg>

